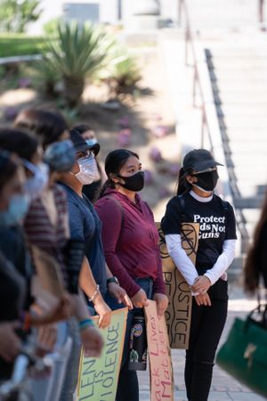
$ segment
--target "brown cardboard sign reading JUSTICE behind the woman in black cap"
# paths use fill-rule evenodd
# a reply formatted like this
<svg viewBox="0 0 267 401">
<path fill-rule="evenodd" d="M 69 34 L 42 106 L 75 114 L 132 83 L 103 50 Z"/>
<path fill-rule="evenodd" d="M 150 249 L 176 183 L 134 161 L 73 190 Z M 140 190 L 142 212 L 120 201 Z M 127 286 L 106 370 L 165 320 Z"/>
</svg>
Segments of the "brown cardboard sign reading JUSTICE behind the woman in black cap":
<svg viewBox="0 0 267 401">
<path fill-rule="evenodd" d="M 174 265 L 166 249 L 164 233 L 157 223 L 162 270 L 166 283 L 169 305 L 166 309 L 166 326 L 171 348 L 187 349 L 190 335 L 191 293 L 188 283 Z M 182 224 L 182 248 L 195 264 L 198 250 L 197 223 Z"/>
</svg>

